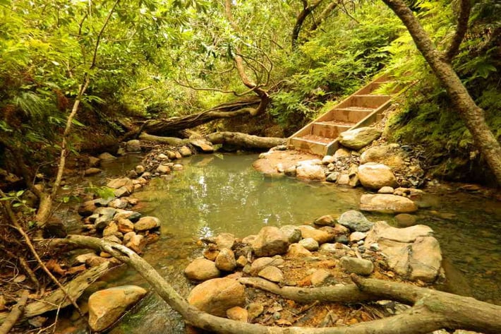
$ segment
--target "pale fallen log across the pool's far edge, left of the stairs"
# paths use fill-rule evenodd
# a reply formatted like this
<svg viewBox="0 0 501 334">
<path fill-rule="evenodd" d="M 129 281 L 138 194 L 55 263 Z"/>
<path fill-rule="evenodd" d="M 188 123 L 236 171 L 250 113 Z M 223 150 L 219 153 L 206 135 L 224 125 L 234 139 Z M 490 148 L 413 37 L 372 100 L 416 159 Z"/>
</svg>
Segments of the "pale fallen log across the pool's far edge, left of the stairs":
<svg viewBox="0 0 501 334">
<path fill-rule="evenodd" d="M 270 149 L 277 145 L 284 145 L 286 143 L 286 138 L 259 137 L 248 135 L 247 133 L 227 131 L 210 133 L 207 136 L 203 136 L 203 138 L 213 145 L 228 144 L 238 148 L 247 149 Z M 139 139 L 172 146 L 188 145 L 191 143 L 191 139 L 153 136 L 148 133 L 141 133 Z"/>
</svg>

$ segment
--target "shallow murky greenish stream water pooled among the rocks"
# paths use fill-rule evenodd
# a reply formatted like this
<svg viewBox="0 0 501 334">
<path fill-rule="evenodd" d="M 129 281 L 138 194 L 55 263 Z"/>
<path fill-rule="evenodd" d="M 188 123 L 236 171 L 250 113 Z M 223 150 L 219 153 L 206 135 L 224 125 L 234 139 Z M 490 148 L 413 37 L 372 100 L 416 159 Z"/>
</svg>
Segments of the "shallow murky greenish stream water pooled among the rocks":
<svg viewBox="0 0 501 334">
<path fill-rule="evenodd" d="M 144 215 L 162 221 L 160 240 L 148 246 L 145 260 L 181 294 L 191 285 L 183 269 L 200 254 L 200 237 L 230 232 L 236 237 L 255 234 L 265 225 L 300 225 L 321 215 L 340 215 L 357 209 L 361 189 L 255 172 L 257 155 L 196 155 L 184 160 L 185 170 L 168 179 L 153 179 L 135 196 Z M 445 257 L 464 275 L 477 299 L 501 304 L 501 205 L 466 193 L 427 195 L 428 209 L 418 222 L 435 230 Z M 392 215 L 367 215 L 387 220 Z M 109 283 L 146 286 L 128 270 Z M 181 318 L 155 295 L 145 299 L 109 333 L 183 333 Z"/>
</svg>

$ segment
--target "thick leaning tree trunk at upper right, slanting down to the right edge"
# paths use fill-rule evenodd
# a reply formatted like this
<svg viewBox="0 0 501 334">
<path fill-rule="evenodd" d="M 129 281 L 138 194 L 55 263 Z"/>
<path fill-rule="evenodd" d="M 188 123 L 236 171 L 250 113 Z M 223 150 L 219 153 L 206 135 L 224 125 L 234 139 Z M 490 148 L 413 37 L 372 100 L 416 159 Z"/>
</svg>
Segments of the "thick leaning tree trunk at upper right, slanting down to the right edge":
<svg viewBox="0 0 501 334">
<path fill-rule="evenodd" d="M 501 185 L 501 146 L 485 122 L 484 111 L 476 105 L 468 90 L 461 83 L 452 66 L 430 40 L 412 11 L 402 0 L 382 0 L 402 20 L 409 30 L 416 47 L 433 69 L 435 76 L 447 90 L 452 105 L 466 124 L 477 148 L 481 151 L 491 171 Z"/>
</svg>

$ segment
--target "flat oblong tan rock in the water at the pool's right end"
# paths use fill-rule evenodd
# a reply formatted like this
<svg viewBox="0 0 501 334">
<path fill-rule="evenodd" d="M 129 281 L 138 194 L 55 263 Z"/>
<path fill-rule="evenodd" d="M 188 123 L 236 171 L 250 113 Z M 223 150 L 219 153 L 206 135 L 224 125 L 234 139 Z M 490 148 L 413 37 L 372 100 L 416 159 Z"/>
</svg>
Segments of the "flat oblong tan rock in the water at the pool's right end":
<svg viewBox="0 0 501 334">
<path fill-rule="evenodd" d="M 362 195 L 360 209 L 378 213 L 414 213 L 418 210 L 418 207 L 409 198 L 378 193 L 375 195 Z"/>
</svg>

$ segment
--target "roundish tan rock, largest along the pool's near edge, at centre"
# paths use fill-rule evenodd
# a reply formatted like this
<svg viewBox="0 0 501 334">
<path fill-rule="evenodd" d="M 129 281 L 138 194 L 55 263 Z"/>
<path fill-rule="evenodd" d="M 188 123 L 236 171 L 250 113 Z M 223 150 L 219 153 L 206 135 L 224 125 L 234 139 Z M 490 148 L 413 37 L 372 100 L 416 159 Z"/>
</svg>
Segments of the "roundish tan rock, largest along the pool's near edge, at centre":
<svg viewBox="0 0 501 334">
<path fill-rule="evenodd" d="M 256 256 L 273 256 L 284 254 L 289 240 L 278 227 L 266 226 L 262 227 L 251 246 Z"/>
</svg>

